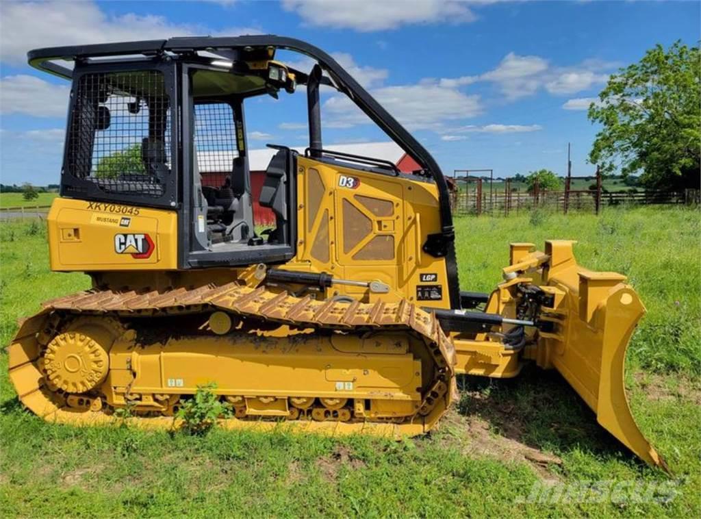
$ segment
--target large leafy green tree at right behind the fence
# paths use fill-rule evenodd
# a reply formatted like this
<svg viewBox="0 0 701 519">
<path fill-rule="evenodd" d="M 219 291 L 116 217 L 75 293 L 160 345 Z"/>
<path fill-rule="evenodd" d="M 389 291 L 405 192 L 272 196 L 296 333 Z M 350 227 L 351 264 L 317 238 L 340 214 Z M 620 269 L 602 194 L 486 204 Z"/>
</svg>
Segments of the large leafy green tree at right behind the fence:
<svg viewBox="0 0 701 519">
<path fill-rule="evenodd" d="M 608 79 L 589 119 L 601 123 L 589 155 L 602 173 L 641 172 L 646 187 L 698 187 L 701 142 L 701 53 L 676 41 L 648 50 Z"/>
</svg>

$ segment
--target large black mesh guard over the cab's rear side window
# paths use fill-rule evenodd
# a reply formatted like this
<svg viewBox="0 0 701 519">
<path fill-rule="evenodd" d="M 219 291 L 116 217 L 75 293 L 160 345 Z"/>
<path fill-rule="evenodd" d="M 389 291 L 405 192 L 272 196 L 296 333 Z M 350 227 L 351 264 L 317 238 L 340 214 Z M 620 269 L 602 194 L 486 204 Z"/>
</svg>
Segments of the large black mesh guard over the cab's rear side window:
<svg viewBox="0 0 701 519">
<path fill-rule="evenodd" d="M 163 74 L 85 74 L 74 95 L 68 173 L 109 193 L 163 196 L 171 168 Z"/>
</svg>

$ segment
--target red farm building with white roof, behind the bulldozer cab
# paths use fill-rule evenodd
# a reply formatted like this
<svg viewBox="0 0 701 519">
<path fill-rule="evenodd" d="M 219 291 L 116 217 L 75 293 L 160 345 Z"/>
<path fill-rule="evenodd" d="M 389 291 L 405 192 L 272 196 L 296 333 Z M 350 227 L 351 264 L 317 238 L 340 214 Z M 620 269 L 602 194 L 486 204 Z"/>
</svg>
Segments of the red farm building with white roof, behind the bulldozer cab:
<svg viewBox="0 0 701 519">
<path fill-rule="evenodd" d="M 294 148 L 300 154 L 304 154 L 304 147 Z M 400 171 L 411 173 L 421 169 L 416 161 L 408 156 L 395 142 L 362 142 L 358 144 L 336 144 L 329 147 L 333 151 L 382 159 L 395 164 Z M 269 224 L 275 222 L 273 212 L 258 204 L 261 187 L 265 180 L 265 170 L 268 168 L 275 149 L 262 148 L 248 151 L 248 166 L 251 170 L 251 191 L 253 196 L 253 217 L 257 224 Z M 226 175 L 229 175 L 229 166 L 235 154 L 222 151 L 198 151 L 198 167 L 202 177 L 203 186 L 222 187 Z"/>
</svg>

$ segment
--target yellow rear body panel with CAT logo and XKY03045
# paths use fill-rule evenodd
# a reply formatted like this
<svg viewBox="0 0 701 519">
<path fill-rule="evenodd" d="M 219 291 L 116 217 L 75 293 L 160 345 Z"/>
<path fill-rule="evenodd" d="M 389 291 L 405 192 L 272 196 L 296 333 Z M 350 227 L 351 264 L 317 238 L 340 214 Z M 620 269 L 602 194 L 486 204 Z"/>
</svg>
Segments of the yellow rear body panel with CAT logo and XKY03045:
<svg viewBox="0 0 701 519">
<path fill-rule="evenodd" d="M 177 269 L 177 213 L 55 198 L 48 213 L 55 271 Z"/>
</svg>

